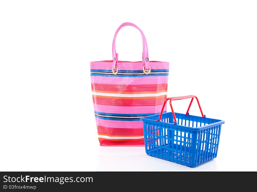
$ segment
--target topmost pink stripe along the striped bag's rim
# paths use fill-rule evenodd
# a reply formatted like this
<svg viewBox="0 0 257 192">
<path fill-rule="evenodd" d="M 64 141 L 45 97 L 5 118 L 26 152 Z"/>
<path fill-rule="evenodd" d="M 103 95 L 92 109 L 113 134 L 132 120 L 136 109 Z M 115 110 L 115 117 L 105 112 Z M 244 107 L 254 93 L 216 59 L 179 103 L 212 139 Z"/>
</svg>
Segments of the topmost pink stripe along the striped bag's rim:
<svg viewBox="0 0 257 192">
<path fill-rule="evenodd" d="M 118 70 L 143 70 L 142 62 L 118 62 L 116 63 Z M 151 62 L 151 69 L 169 69 L 169 63 L 166 62 Z M 90 62 L 91 69 L 112 70 L 112 62 Z"/>
</svg>

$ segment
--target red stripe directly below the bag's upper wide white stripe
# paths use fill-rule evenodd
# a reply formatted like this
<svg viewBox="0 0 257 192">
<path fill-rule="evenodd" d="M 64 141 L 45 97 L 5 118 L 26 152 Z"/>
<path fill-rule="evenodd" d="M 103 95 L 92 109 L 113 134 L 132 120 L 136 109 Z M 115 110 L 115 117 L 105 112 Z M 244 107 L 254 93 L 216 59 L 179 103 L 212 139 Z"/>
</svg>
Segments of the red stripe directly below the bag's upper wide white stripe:
<svg viewBox="0 0 257 192">
<path fill-rule="evenodd" d="M 120 99 L 120 98 L 105 98 L 105 97 L 95 97 L 93 96 L 93 103 L 99 105 L 115 105 L 115 106 L 156 106 L 163 105 L 166 96 L 159 98 L 135 98 L 135 99 Z"/>
</svg>

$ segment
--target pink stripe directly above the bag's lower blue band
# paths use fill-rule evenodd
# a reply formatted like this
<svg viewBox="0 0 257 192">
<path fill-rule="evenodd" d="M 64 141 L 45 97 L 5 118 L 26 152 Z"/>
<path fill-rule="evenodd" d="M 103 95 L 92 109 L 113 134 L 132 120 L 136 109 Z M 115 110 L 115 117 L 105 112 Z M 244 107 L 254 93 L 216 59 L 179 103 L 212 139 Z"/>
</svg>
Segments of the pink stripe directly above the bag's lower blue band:
<svg viewBox="0 0 257 192">
<path fill-rule="evenodd" d="M 136 114 L 136 113 L 160 113 L 162 105 L 156 106 L 113 106 L 113 105 L 98 105 L 94 103 L 94 109 L 102 113 L 124 113 L 124 114 Z M 166 111 L 166 106 L 164 108 Z"/>
</svg>

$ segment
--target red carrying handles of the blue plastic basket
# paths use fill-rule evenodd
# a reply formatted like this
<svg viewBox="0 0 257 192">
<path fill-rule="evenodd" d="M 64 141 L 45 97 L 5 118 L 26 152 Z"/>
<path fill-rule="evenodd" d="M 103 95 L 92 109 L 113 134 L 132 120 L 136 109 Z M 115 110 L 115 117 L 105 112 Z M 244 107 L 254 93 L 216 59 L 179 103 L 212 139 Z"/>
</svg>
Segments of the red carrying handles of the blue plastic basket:
<svg viewBox="0 0 257 192">
<path fill-rule="evenodd" d="M 198 103 L 198 106 L 199 106 L 201 115 L 202 115 L 202 117 L 204 117 L 204 114 L 203 114 L 203 111 L 202 111 L 202 108 L 201 108 L 201 106 L 200 106 L 200 103 L 199 103 L 198 98 L 197 98 L 195 95 L 188 95 L 188 96 L 181 96 L 181 97 L 169 97 L 169 98 L 166 98 L 166 100 L 164 101 L 164 103 L 163 103 L 163 105 L 162 105 L 162 111 L 161 111 L 161 113 L 160 113 L 159 119 L 157 119 L 156 121 L 161 120 L 161 118 L 162 118 L 162 113 L 163 113 L 165 104 L 167 103 L 167 101 L 170 100 L 171 112 L 172 112 L 173 119 L 174 119 L 173 124 L 176 124 L 175 122 L 177 122 L 177 120 L 176 120 L 176 116 L 175 116 L 173 107 L 172 107 L 172 105 L 171 105 L 171 101 L 181 100 L 181 99 L 188 99 L 188 98 L 192 98 L 192 99 L 191 99 L 191 101 L 190 101 L 190 103 L 189 103 L 189 106 L 188 106 L 188 108 L 187 108 L 186 115 L 188 115 L 188 111 L 189 111 L 189 109 L 190 109 L 190 107 L 191 107 L 191 105 L 192 105 L 192 102 L 193 102 L 194 98 L 195 98 L 196 101 L 197 101 L 197 103 Z"/>
</svg>

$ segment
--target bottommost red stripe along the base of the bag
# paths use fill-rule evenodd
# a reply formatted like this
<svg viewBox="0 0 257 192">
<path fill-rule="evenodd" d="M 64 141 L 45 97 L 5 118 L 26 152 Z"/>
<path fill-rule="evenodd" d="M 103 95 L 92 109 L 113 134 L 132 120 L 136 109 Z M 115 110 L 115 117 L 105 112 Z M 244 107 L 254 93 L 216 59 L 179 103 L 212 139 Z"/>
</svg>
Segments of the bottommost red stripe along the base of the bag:
<svg viewBox="0 0 257 192">
<path fill-rule="evenodd" d="M 144 139 L 115 139 L 113 140 L 107 140 L 103 138 L 98 138 L 100 146 L 119 146 L 119 145 L 144 145 Z"/>
</svg>

